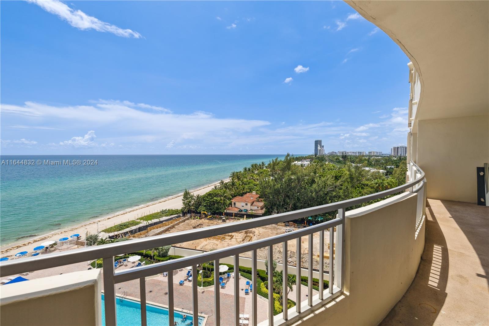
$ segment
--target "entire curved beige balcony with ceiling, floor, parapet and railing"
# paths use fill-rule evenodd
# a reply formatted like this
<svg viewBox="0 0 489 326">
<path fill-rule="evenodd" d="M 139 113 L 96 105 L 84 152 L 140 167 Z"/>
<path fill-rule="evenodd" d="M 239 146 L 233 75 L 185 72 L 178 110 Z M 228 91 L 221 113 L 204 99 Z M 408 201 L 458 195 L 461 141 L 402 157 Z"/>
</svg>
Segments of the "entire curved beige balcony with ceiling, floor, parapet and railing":
<svg viewBox="0 0 489 326">
<path fill-rule="evenodd" d="M 95 248 L 23 258 L 2 263 L 2 278 L 31 272 L 35 279 L 1 291 L 2 325 L 115 325 L 120 297 L 166 306 L 168 324 L 174 312 L 192 315 L 194 325 L 488 325 L 488 208 L 476 206 L 475 168 L 489 162 L 488 14 L 487 1 L 348 1 L 367 20 L 384 30 L 408 55 L 409 99 L 407 183 L 395 189 L 344 202 L 292 211 L 240 223 L 170 233 Z M 375 202 L 368 206 L 352 207 Z M 351 209 L 351 210 L 349 210 Z M 296 218 L 336 211 L 331 221 L 291 233 L 247 242 L 149 266 L 114 269 L 114 256 L 186 240 L 222 235 Z M 336 230 L 334 230 L 336 229 Z M 313 251 L 306 266 L 279 264 L 287 275 L 308 277 L 283 297 L 296 305 L 274 315 L 272 282 L 268 298 L 257 294 L 257 270 L 264 262 L 257 250 L 295 244 L 301 261 L 303 241 L 319 238 L 318 269 Z M 329 248 L 334 256 L 324 257 Z M 283 250 L 287 253 L 287 250 Z M 250 253 L 250 258 L 243 255 Z M 103 258 L 99 270 L 82 271 Z M 201 292 L 197 278 L 178 285 L 180 270 L 213 261 L 251 269 L 252 290 L 244 294 L 244 277 L 219 279 Z M 79 272 L 43 278 L 44 271 L 75 266 Z M 271 264 L 270 264 L 271 265 Z M 168 273 L 162 277 L 161 274 Z M 272 279 L 272 270 L 266 271 Z M 155 278 L 155 276 L 159 275 Z M 217 277 L 216 277 L 217 278 Z M 312 279 L 329 287 L 314 290 Z M 284 300 L 287 303 L 287 300 Z M 285 305 L 285 304 L 284 304 Z M 28 311 L 29 313 L 25 313 Z M 33 313 L 31 313 L 33 312 Z M 74 314 L 76 312 L 76 314 Z M 201 316 L 201 319 L 199 319 Z M 76 320 L 73 320 L 76 318 Z M 68 322 L 69 321 L 69 322 Z"/>
</svg>

